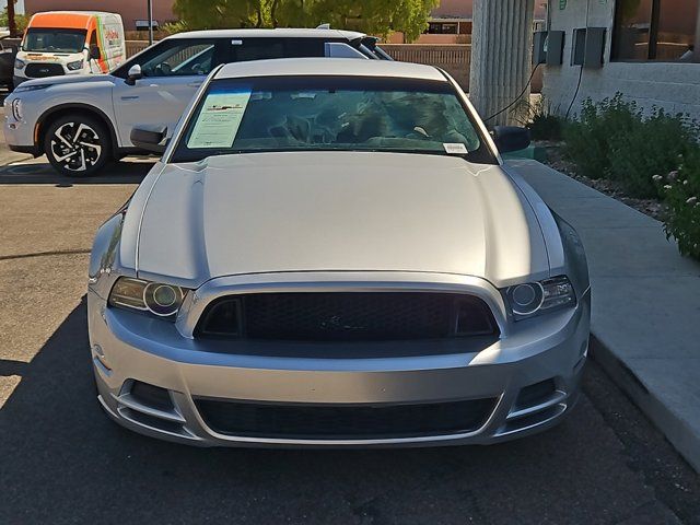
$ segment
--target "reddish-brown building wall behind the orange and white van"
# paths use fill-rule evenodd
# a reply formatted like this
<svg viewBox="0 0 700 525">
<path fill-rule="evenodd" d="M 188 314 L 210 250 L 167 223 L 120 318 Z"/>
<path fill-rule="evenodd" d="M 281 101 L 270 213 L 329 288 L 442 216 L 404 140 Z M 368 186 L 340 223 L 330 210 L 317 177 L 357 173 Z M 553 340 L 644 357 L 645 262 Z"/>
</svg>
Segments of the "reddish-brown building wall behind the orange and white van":
<svg viewBox="0 0 700 525">
<path fill-rule="evenodd" d="M 24 0 L 24 12 L 27 14 L 56 10 L 118 13 L 126 31 L 148 30 L 149 26 L 145 0 Z M 173 0 L 153 0 L 153 20 L 159 25 L 176 21 Z"/>
</svg>

